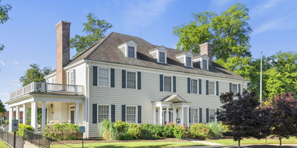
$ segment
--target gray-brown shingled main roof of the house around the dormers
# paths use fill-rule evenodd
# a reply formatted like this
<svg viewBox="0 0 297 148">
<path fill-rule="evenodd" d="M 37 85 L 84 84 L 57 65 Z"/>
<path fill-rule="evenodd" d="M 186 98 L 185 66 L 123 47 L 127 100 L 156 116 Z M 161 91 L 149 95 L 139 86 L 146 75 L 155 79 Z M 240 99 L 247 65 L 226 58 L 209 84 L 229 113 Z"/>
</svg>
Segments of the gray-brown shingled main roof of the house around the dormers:
<svg viewBox="0 0 297 148">
<path fill-rule="evenodd" d="M 123 52 L 117 48 L 122 43 L 128 42 L 133 39 L 139 45 L 137 46 L 137 59 L 126 58 Z M 180 63 L 176 55 L 185 53 L 182 50 L 176 50 L 172 48 L 167 48 L 167 64 L 158 63 L 154 59 L 149 51 L 156 49 L 160 46 L 153 45 L 144 39 L 135 36 L 129 36 L 125 34 L 119 34 L 111 32 L 105 38 L 101 39 L 97 43 L 93 44 L 88 49 L 84 50 L 82 53 L 72 58 L 70 63 L 78 61 L 80 59 L 90 59 L 96 61 L 105 61 L 110 63 L 119 63 L 133 66 L 148 67 L 154 69 L 162 69 L 169 71 L 180 71 L 185 73 L 202 74 L 214 77 L 223 77 L 231 79 L 247 80 L 234 72 L 225 69 L 224 67 L 218 65 L 217 63 L 212 63 L 209 70 L 204 70 L 200 68 L 200 65 L 193 63 L 193 67 L 185 67 L 183 63 Z M 200 54 L 194 53 L 194 57 L 198 57 Z M 70 64 L 69 63 L 69 64 Z"/>
</svg>

